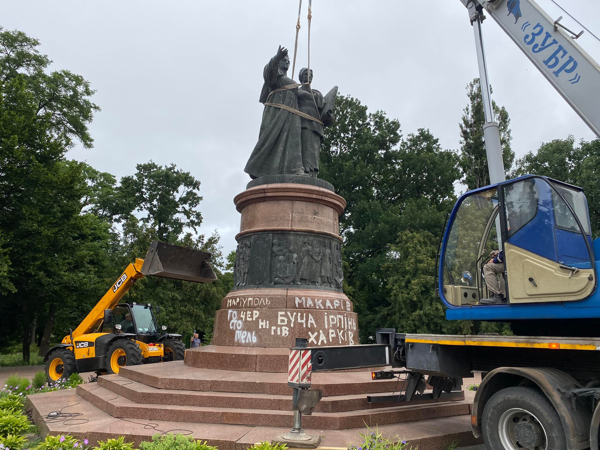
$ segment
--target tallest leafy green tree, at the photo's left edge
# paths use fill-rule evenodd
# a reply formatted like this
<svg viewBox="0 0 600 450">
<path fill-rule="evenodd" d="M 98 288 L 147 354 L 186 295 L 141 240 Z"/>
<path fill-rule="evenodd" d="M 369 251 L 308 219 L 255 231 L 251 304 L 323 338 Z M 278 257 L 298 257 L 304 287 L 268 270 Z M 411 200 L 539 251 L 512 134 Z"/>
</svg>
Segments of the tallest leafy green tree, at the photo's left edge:
<svg viewBox="0 0 600 450">
<path fill-rule="evenodd" d="M 49 71 L 39 44 L 0 28 L 0 304 L 7 331 L 22 336 L 25 361 L 47 305 L 64 289 L 81 295 L 94 278 L 76 243 L 106 238 L 103 224 L 80 214 L 82 168 L 64 161 L 76 140 L 92 146 L 94 91 L 77 74 Z M 6 341 L 3 334 L 0 346 Z"/>
</svg>

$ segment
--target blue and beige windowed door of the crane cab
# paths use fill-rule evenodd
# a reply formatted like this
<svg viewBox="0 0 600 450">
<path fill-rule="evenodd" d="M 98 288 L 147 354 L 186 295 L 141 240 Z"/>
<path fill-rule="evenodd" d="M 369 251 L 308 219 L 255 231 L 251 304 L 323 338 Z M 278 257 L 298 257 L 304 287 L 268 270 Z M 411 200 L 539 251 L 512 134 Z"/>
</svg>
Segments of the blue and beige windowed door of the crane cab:
<svg viewBox="0 0 600 450">
<path fill-rule="evenodd" d="M 547 179 L 531 176 L 503 184 L 500 201 L 509 302 L 577 301 L 589 296 L 595 287 L 589 238 L 562 192 Z M 589 229 L 587 208 L 578 218 Z"/>
</svg>

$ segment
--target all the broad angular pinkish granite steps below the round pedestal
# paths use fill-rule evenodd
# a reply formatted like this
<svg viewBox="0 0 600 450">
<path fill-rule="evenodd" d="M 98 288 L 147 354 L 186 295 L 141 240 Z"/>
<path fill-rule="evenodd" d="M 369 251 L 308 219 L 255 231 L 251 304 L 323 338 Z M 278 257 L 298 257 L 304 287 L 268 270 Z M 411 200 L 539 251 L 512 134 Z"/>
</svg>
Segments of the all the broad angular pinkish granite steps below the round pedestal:
<svg viewBox="0 0 600 450">
<path fill-rule="evenodd" d="M 460 445 L 477 443 L 470 431 L 472 400 L 462 392 L 451 399 L 367 403 L 367 395 L 398 392 L 401 385 L 371 380 L 370 371 L 313 373 L 313 388 L 322 389 L 323 399 L 313 415 L 302 417 L 302 424 L 326 437 L 322 446 L 356 442 L 356 431 L 365 425 L 385 427 L 404 439 L 424 439 L 420 449 L 443 450 L 429 445 L 446 442 L 450 435 Z M 211 370 L 174 361 L 124 367 L 118 375 L 101 376 L 97 383 L 71 391 L 30 395 L 28 409 L 40 430 L 52 434 L 88 439 L 123 434 L 139 443 L 157 431 L 189 432 L 221 450 L 244 449 L 289 430 L 291 394 L 285 373 Z M 61 409 L 81 415 L 44 419 Z"/>
</svg>

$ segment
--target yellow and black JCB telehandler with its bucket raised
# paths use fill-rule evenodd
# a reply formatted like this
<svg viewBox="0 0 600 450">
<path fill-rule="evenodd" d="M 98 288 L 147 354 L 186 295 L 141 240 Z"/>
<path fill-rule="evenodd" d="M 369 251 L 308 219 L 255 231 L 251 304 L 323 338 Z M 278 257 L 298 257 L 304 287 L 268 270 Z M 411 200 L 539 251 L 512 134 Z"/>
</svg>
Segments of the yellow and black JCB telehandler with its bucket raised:
<svg viewBox="0 0 600 450">
<path fill-rule="evenodd" d="M 44 357 L 50 383 L 74 372 L 119 373 L 124 365 L 184 359 L 181 334 L 158 327 L 150 304 L 119 304 L 145 275 L 211 283 L 217 277 L 210 253 L 154 241 L 145 259 L 136 258 L 92 311 Z M 158 313 L 159 307 L 154 307 Z"/>
</svg>

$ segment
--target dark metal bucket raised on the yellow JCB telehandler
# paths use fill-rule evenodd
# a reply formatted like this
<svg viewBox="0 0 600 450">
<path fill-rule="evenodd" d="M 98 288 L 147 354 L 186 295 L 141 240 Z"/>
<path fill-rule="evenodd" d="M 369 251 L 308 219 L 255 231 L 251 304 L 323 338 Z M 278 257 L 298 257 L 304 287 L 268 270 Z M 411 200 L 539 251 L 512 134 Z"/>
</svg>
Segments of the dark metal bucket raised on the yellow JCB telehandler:
<svg viewBox="0 0 600 450">
<path fill-rule="evenodd" d="M 154 277 L 212 283 L 217 276 L 210 260 L 211 254 L 206 251 L 154 241 L 148 248 L 141 272 Z"/>
</svg>

